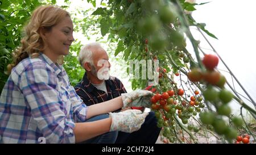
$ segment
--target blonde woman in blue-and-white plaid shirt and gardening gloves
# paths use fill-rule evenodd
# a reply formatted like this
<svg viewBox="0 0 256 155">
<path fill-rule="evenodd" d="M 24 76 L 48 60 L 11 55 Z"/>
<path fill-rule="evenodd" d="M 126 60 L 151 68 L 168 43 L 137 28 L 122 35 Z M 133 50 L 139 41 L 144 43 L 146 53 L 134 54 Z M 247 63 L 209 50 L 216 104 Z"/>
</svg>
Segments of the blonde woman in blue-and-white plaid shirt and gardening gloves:
<svg viewBox="0 0 256 155">
<path fill-rule="evenodd" d="M 58 59 L 68 55 L 74 41 L 73 23 L 67 11 L 40 6 L 25 28 L 26 36 L 7 68 L 10 77 L 0 97 L 0 143 L 79 143 L 111 132 L 137 131 L 147 113 L 121 107 L 150 105 L 150 91 L 136 90 L 86 107 L 69 83 Z M 86 122 L 93 116 L 109 117 Z M 113 134 L 114 135 L 114 134 Z M 106 141 L 108 143 L 108 141 Z"/>
</svg>

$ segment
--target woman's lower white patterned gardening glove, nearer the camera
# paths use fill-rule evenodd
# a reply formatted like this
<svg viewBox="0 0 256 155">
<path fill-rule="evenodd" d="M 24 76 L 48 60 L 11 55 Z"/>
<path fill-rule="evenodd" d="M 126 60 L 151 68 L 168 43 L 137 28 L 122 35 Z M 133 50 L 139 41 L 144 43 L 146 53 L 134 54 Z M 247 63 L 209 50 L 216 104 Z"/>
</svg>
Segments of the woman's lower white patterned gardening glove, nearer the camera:
<svg viewBox="0 0 256 155">
<path fill-rule="evenodd" d="M 134 132 L 141 128 L 144 123 L 147 112 L 142 113 L 140 110 L 126 110 L 117 113 L 109 113 L 112 118 L 110 131 Z"/>
</svg>

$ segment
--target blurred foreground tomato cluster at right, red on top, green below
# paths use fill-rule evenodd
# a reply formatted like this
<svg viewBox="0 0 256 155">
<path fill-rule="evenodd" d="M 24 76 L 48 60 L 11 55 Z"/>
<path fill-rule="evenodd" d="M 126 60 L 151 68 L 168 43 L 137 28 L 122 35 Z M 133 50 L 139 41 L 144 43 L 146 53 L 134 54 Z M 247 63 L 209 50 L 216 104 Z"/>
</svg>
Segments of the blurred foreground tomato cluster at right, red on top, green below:
<svg viewBox="0 0 256 155">
<path fill-rule="evenodd" d="M 224 89 L 226 79 L 215 69 L 218 65 L 218 57 L 214 55 L 205 55 L 203 64 L 207 69 L 202 72 L 201 69 L 195 68 L 188 73 L 188 78 L 192 82 L 207 82 L 207 89 L 203 91 L 204 99 L 212 102 L 217 112 L 203 112 L 200 114 L 200 120 L 203 124 L 214 128 L 214 131 L 219 135 L 225 135 L 226 139 L 232 140 L 237 137 L 237 129 L 229 127 L 222 116 L 229 116 L 231 108 L 228 103 L 233 99 L 233 94 Z M 220 87 L 218 91 L 214 86 Z M 191 97 L 193 104 L 195 98 Z M 236 127 L 242 126 L 242 119 L 233 118 L 233 125 Z"/>
</svg>

